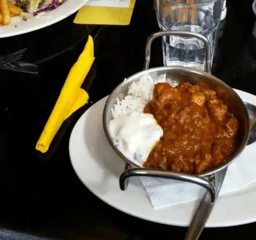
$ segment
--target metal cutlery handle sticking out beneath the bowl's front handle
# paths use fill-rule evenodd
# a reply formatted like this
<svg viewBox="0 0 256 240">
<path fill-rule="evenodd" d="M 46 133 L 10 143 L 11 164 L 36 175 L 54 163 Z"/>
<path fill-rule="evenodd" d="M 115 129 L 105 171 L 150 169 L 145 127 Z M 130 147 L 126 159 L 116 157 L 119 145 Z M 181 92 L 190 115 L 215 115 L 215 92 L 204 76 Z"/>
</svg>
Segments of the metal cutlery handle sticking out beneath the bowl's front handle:
<svg viewBox="0 0 256 240">
<path fill-rule="evenodd" d="M 224 168 L 220 172 L 210 177 L 210 181 L 215 185 L 215 201 L 211 202 L 211 195 L 208 191 L 205 191 L 205 194 L 200 201 L 197 211 L 195 212 L 190 227 L 187 230 L 185 240 L 198 240 L 201 235 L 201 232 L 204 230 L 205 224 L 210 216 L 212 209 L 215 205 L 215 202 L 218 198 L 221 186 L 223 184 L 227 168 Z"/>
</svg>

